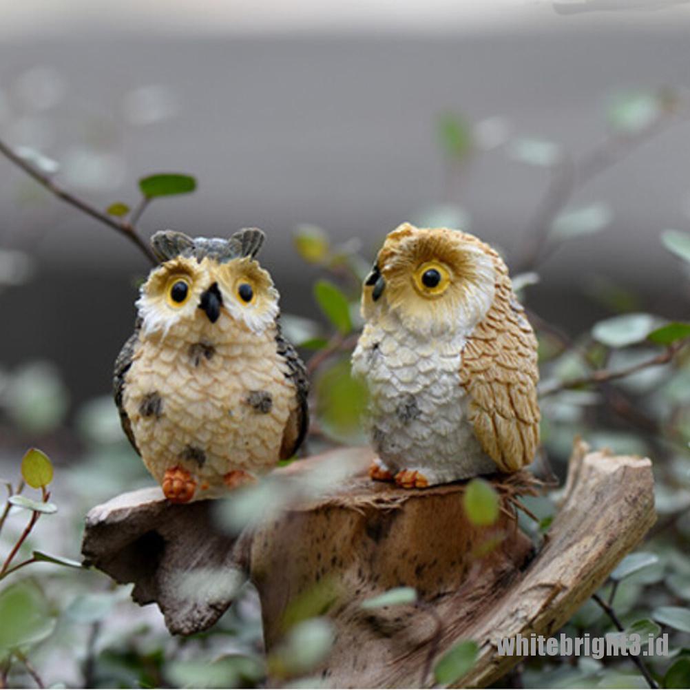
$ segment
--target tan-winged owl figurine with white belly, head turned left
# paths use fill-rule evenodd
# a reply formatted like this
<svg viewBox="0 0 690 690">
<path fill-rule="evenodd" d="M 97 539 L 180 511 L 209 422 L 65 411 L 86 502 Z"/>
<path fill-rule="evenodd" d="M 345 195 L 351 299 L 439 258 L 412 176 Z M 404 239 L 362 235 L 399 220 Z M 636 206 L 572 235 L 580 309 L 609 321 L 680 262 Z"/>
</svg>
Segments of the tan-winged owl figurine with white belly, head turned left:
<svg viewBox="0 0 690 690">
<path fill-rule="evenodd" d="M 490 246 L 401 225 L 364 283 L 362 314 L 353 373 L 370 394 L 371 477 L 423 488 L 532 462 L 537 341 Z"/>
</svg>

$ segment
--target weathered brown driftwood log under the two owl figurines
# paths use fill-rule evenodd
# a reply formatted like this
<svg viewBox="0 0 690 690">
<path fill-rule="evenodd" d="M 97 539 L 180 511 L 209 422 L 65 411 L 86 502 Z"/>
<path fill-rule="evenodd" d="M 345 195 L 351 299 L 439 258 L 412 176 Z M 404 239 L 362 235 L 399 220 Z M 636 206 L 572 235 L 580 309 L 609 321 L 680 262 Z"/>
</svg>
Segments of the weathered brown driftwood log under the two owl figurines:
<svg viewBox="0 0 690 690">
<path fill-rule="evenodd" d="M 213 625 L 249 577 L 269 653 L 291 602 L 326 582 L 336 635 L 317 672 L 331 687 L 431 685 L 433 660 L 469 639 L 479 658 L 457 684 L 485 687 L 520 661 L 498 656 L 498 639 L 558 631 L 655 520 L 651 462 L 589 453 L 582 442 L 539 549 L 515 519 L 520 495 L 535 490 L 529 475 L 491 480 L 502 502 L 491 527 L 467 520 L 466 484 L 406 491 L 371 482 L 366 449 L 294 463 L 274 479 L 298 487 L 334 460 L 337 489 L 302 497 L 237 537 L 219 528 L 214 502 L 172 505 L 159 489 L 121 495 L 88 514 L 86 563 L 133 582 L 135 601 L 157 603 L 170 632 L 182 635 Z M 415 587 L 420 603 L 362 609 L 364 599 L 401 585 Z"/>
</svg>

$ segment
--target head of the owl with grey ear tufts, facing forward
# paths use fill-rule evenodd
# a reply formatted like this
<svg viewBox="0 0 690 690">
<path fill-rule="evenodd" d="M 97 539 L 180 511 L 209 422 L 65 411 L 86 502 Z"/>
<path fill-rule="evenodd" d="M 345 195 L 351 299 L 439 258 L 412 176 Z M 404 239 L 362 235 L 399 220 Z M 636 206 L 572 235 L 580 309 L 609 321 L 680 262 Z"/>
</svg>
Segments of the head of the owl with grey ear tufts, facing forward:
<svg viewBox="0 0 690 690">
<path fill-rule="evenodd" d="M 263 242 L 257 228 L 229 239 L 155 233 L 151 246 L 161 264 L 137 300 L 144 335 L 211 333 L 228 320 L 262 333 L 279 312 L 273 280 L 255 259 Z"/>
</svg>

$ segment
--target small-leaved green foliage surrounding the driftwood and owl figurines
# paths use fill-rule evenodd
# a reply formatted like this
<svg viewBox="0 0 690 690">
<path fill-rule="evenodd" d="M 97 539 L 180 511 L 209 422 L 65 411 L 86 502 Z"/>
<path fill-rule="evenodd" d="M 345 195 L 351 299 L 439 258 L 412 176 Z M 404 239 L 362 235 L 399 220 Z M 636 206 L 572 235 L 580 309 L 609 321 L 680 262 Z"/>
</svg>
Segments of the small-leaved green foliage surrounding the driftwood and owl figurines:
<svg viewBox="0 0 690 690">
<path fill-rule="evenodd" d="M 603 167 L 617 164 L 622 159 L 620 146 L 646 137 L 669 117 L 673 102 L 672 94 L 669 98 L 669 94 L 652 92 L 612 97 L 604 114 L 612 138 L 593 151 L 593 159 Z M 453 168 L 451 174 L 488 148 L 482 141 L 486 141 L 489 130 L 484 127 L 484 134 L 480 130 L 462 114 L 446 113 L 438 121 L 437 136 L 447 167 Z M 493 141 L 498 143 L 492 148 L 502 148 L 515 163 L 546 168 L 535 170 L 535 175 L 552 175 L 556 181 L 573 166 L 573 184 L 586 180 L 580 159 L 559 142 L 519 133 L 508 140 L 507 130 L 503 125 L 498 138 L 493 133 Z M 612 142 L 615 156 L 609 160 L 607 146 Z M 57 170 L 55 161 L 38 152 L 25 150 L 22 155 L 46 175 Z M 189 175 L 150 175 L 139 181 L 144 197 L 139 205 L 132 211 L 123 202 L 111 204 L 106 208 L 108 221 L 124 229 L 128 237 L 136 237 L 132 226 L 137 225 L 152 199 L 190 193 L 195 188 L 196 181 Z M 606 201 L 583 197 L 571 206 L 570 199 L 579 198 L 573 196 L 575 190 L 575 186 L 567 188 L 561 199 L 547 193 L 549 203 L 544 208 L 549 213 L 542 219 L 543 227 L 536 230 L 538 250 L 525 257 L 522 273 L 513 278 L 515 290 L 520 290 L 520 299 L 528 307 L 533 292 L 550 288 L 548 281 L 540 283 L 540 275 L 546 275 L 542 274 L 542 263 L 549 257 L 544 248 L 588 242 L 589 235 L 605 233 L 613 221 Z M 466 226 L 470 221 L 454 203 L 430 205 L 415 217 L 428 225 Z M 491 242 L 494 238 L 486 239 Z M 284 317 L 286 334 L 308 355 L 313 380 L 310 447 L 316 451 L 333 444 L 363 443 L 366 437 L 361 417 L 366 390 L 353 380 L 349 357 L 362 326 L 360 288 L 370 270 L 376 242 L 364 250 L 357 239 L 337 244 L 323 228 L 301 226 L 295 230 L 293 244 L 295 259 L 318 273 L 313 292 L 323 317 L 320 321 L 316 317 Z M 677 262 L 681 268 L 687 268 L 687 230 L 664 230 L 660 246 L 681 259 Z M 515 257 L 508 259 L 514 266 Z M 672 265 L 670 257 L 669 263 Z M 562 326 L 567 324 L 549 324 L 540 318 L 533 322 L 540 341 L 544 460 L 562 477 L 573 436 L 578 434 L 595 446 L 610 446 L 616 452 L 652 455 L 656 505 L 662 517 L 640 551 L 625 558 L 611 573 L 599 595 L 613 607 L 626 633 L 635 632 L 643 638 L 669 635 L 671 658 L 653 656 L 644 663 L 664 687 L 687 687 L 690 324 L 673 320 L 678 318 L 673 313 L 658 314 L 656 305 L 645 295 L 637 294 L 631 286 L 616 284 L 607 275 L 583 276 L 582 285 L 573 289 L 591 295 L 607 317 L 575 335 L 563 332 Z M 665 351 L 669 355 L 660 361 L 659 353 L 664 356 Z M 34 437 L 52 440 L 53 435 L 65 433 L 68 407 L 68 388 L 52 364 L 28 362 L 12 371 L 0 371 L 0 412 L 22 438 L 27 438 L 27 445 Z M 30 667 L 35 670 L 52 654 L 70 661 L 72 675 L 79 679 L 76 684 L 84 687 L 262 687 L 267 669 L 286 684 L 317 682 L 309 674 L 327 657 L 333 644 L 333 627 L 325 616 L 339 595 L 337 583 L 321 582 L 290 601 L 282 644 L 266 658 L 257 595 L 243 584 L 239 573 L 224 573 L 237 588 L 237 602 L 214 629 L 175 641 L 170 640 L 155 611 L 135 609 L 126 588 L 111 586 L 81 566 L 77 544 L 86 509 L 148 480 L 141 462 L 122 438 L 109 398 L 83 406 L 76 420 L 74 433 L 79 438 L 75 446 L 86 451 L 81 462 L 57 473 L 57 499 L 48 491 L 49 486 L 55 486 L 52 462 L 41 451 L 28 451 L 21 463 L 17 461 L 16 482 L 8 482 L 6 512 L 0 511 L 0 680 L 12 682 L 12 687 L 33 684 Z M 288 500 L 291 496 L 283 487 L 270 483 L 248 487 L 234 495 L 233 502 L 219 502 L 219 522 L 236 532 L 266 515 L 277 515 Z M 498 496 L 486 480 L 468 482 L 462 500 L 469 519 L 477 526 L 491 526 L 497 520 Z M 530 498 L 524 504 L 537 520 L 521 515 L 523 529 L 540 543 L 557 512 L 553 497 Z M 46 528 L 57 527 L 55 533 L 61 537 L 57 543 L 46 536 L 47 532 L 35 529 L 39 520 L 41 529 L 44 523 Z M 487 548 L 495 546 L 490 532 L 487 530 Z M 50 553 L 46 553 L 42 549 L 49 540 Z M 53 552 L 66 555 L 51 555 Z M 477 551 L 477 558 L 481 555 Z M 210 573 L 202 582 L 191 580 L 186 586 L 209 588 L 214 582 Z M 363 608 L 420 607 L 423 603 L 414 589 L 400 586 L 366 600 Z M 593 600 L 573 615 L 564 632 L 620 635 Z M 63 644 L 70 645 L 68 653 L 63 652 Z M 457 682 L 475 664 L 477 651 L 472 640 L 456 644 L 437 660 L 433 669 L 436 682 Z M 49 667 L 51 683 L 67 682 L 67 673 L 61 676 L 62 671 L 56 672 L 46 663 Z M 583 658 L 576 664 L 569 660 L 526 660 L 522 685 L 647 687 L 647 682 L 629 658 L 621 657 L 602 661 Z"/>
</svg>

